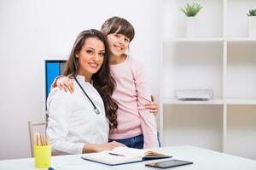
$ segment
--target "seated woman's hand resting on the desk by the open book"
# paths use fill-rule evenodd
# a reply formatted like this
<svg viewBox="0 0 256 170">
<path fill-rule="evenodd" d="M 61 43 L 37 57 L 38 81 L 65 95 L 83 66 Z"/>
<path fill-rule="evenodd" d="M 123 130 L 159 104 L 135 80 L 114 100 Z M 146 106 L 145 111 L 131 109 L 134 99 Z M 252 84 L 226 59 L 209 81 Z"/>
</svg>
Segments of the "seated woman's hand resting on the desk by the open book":
<svg viewBox="0 0 256 170">
<path fill-rule="evenodd" d="M 113 141 L 107 144 L 84 144 L 83 153 L 99 152 L 103 150 L 113 150 L 113 148 L 118 146 L 126 147 L 125 144 L 121 144 L 116 141 Z"/>
</svg>

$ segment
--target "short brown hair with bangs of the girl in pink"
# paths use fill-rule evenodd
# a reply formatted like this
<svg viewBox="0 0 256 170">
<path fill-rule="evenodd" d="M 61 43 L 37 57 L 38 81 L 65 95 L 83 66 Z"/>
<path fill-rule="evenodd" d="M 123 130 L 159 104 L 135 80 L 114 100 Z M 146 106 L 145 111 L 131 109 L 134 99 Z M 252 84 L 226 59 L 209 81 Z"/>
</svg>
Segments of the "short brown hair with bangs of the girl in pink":
<svg viewBox="0 0 256 170">
<path fill-rule="evenodd" d="M 102 32 L 105 35 L 118 33 L 130 39 L 130 42 L 135 36 L 135 30 L 128 20 L 113 16 L 104 22 Z"/>
</svg>

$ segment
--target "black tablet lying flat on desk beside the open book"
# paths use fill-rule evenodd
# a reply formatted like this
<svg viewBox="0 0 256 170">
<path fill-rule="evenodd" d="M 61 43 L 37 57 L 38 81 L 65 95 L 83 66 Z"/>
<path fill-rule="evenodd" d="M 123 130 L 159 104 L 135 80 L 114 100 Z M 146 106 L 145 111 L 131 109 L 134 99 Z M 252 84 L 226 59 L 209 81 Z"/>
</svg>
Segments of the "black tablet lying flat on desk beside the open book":
<svg viewBox="0 0 256 170">
<path fill-rule="evenodd" d="M 168 161 L 159 161 L 155 163 L 148 163 L 145 166 L 148 167 L 158 167 L 158 168 L 168 168 L 168 167 L 179 167 L 183 165 L 192 164 L 192 161 L 182 161 L 182 160 L 168 160 Z"/>
</svg>

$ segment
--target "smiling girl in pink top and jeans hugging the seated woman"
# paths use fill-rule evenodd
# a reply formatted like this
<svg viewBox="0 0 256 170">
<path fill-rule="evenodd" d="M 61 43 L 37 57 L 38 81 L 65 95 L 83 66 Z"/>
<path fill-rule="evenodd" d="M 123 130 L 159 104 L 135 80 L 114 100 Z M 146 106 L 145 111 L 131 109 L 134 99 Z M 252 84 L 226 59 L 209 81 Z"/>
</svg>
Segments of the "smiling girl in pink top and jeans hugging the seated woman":
<svg viewBox="0 0 256 170">
<path fill-rule="evenodd" d="M 129 21 L 112 17 L 104 22 L 102 32 L 108 37 L 111 73 L 116 82 L 112 97 L 119 106 L 118 127 L 110 131 L 109 141 L 115 140 L 139 149 L 158 147 L 154 115 L 147 110 L 147 106 L 154 110 L 156 107 L 150 105 L 149 86 L 143 65 L 125 54 L 135 36 L 134 28 Z M 56 83 L 61 88 L 73 91 L 73 85 L 67 77 L 58 78 Z"/>
</svg>

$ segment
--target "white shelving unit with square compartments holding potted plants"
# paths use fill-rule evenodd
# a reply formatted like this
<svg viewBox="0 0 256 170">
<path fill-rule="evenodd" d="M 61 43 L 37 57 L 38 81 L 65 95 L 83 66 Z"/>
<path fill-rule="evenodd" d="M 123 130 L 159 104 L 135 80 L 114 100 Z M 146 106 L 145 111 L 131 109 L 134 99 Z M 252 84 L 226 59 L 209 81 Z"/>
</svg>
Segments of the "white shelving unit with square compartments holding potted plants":
<svg viewBox="0 0 256 170">
<path fill-rule="evenodd" d="M 256 159 L 255 0 L 162 0 L 160 137 Z M 185 37 L 186 3 L 201 3 L 198 37 Z M 210 101 L 180 101 L 175 89 L 212 88 Z"/>
</svg>

